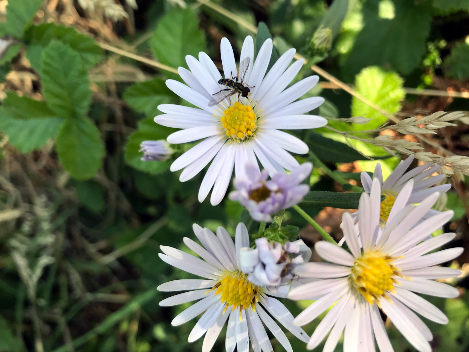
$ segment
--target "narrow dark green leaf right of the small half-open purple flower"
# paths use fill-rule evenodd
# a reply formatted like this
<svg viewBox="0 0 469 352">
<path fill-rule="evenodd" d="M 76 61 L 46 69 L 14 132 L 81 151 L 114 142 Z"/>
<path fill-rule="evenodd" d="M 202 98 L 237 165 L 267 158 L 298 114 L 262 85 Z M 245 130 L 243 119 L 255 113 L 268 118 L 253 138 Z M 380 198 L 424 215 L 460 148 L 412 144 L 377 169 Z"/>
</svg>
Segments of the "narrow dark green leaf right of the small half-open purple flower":
<svg viewBox="0 0 469 352">
<path fill-rule="evenodd" d="M 328 192 L 328 191 L 310 191 L 298 204 L 299 207 L 323 208 L 333 207 L 339 209 L 357 209 L 358 201 L 362 193 L 357 192 Z M 381 201 L 385 199 L 381 196 Z"/>
</svg>

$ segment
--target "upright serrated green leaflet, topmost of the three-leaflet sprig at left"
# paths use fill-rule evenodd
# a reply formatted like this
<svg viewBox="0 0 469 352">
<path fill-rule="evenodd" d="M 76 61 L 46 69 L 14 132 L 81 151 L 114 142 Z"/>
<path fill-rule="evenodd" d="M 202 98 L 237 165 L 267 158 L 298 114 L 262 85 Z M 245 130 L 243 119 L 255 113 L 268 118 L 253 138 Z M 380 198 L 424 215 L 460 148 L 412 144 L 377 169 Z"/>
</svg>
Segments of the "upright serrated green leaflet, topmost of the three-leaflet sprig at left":
<svg viewBox="0 0 469 352">
<path fill-rule="evenodd" d="M 57 115 L 85 116 L 92 92 L 80 55 L 53 40 L 42 52 L 42 84 L 45 99 Z"/>
</svg>

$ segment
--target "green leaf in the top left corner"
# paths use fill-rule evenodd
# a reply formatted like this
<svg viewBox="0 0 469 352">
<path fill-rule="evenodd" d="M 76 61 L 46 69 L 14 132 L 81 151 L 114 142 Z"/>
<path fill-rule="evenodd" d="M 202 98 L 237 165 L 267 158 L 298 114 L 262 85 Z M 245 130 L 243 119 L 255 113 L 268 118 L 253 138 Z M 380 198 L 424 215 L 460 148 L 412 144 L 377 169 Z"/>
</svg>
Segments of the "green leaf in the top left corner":
<svg viewBox="0 0 469 352">
<path fill-rule="evenodd" d="M 23 38 L 23 31 L 30 23 L 44 0 L 12 0 L 7 5 L 7 23 L 3 27 L 8 34 Z"/>
</svg>

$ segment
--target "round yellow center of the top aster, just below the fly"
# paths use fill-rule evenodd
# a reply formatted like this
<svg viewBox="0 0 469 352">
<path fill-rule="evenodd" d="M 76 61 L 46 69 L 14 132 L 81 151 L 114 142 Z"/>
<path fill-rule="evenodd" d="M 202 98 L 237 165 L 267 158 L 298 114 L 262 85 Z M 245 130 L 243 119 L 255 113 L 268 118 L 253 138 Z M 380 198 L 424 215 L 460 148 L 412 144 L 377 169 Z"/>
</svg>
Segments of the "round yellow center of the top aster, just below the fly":
<svg viewBox="0 0 469 352">
<path fill-rule="evenodd" d="M 237 141 L 251 138 L 257 130 L 257 117 L 252 106 L 238 101 L 225 110 L 220 121 L 227 137 Z"/>
</svg>

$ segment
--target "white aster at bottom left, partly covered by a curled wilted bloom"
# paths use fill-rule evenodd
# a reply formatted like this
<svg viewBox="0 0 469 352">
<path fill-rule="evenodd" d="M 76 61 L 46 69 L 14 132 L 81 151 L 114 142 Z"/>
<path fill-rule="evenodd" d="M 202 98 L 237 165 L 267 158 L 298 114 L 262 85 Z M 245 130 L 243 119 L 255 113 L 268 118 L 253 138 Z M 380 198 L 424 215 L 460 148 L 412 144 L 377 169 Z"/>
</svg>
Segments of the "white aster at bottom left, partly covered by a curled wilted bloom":
<svg viewBox="0 0 469 352">
<path fill-rule="evenodd" d="M 269 314 L 293 335 L 308 341 L 303 329 L 293 325 L 293 315 L 287 307 L 278 299 L 270 297 L 284 298 L 290 287 L 283 286 L 272 293 L 263 286 L 250 283 L 248 275 L 241 272 L 239 253 L 242 247 L 249 247 L 248 230 L 242 222 L 236 227 L 235 244 L 222 227 L 217 229 L 217 235 L 197 224 L 193 225 L 193 230 L 203 246 L 188 237 L 184 237 L 184 243 L 204 260 L 168 246 L 161 246 L 165 254 L 159 254 L 166 263 L 204 277 L 174 280 L 158 286 L 159 291 L 187 291 L 162 300 L 160 306 L 175 306 L 198 300 L 171 322 L 174 326 L 181 325 L 204 313 L 190 332 L 189 342 L 205 334 L 202 351 L 210 351 L 228 320 L 225 340 L 227 352 L 233 352 L 235 346 L 238 352 L 248 352 L 249 340 L 255 352 L 271 352 L 272 344 L 264 323 L 280 344 L 292 352 L 285 333 Z"/>
</svg>

